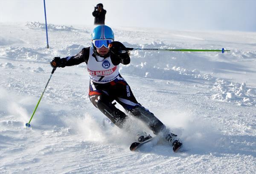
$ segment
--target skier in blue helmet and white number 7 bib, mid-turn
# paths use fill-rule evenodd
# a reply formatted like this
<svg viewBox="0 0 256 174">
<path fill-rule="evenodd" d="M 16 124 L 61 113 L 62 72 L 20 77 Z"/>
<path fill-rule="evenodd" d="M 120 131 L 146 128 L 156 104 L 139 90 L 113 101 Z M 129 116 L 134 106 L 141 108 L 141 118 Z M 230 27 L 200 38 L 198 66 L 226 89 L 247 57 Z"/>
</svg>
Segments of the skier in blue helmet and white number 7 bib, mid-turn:
<svg viewBox="0 0 256 174">
<path fill-rule="evenodd" d="M 130 56 L 126 47 L 114 41 L 114 34 L 110 27 L 100 25 L 91 34 L 92 46 L 83 48 L 77 55 L 66 58 L 55 57 L 50 62 L 52 67 L 66 67 L 87 64 L 90 76 L 89 98 L 108 119 L 117 127 L 123 128 L 128 116 L 115 107 L 116 100 L 131 115 L 142 120 L 156 135 L 165 138 L 173 150 L 180 148 L 182 143 L 177 135 L 168 128 L 153 113 L 143 107 L 134 97 L 131 87 L 119 74 L 119 64 L 129 64 Z M 143 139 L 139 141 L 143 142 Z"/>
</svg>

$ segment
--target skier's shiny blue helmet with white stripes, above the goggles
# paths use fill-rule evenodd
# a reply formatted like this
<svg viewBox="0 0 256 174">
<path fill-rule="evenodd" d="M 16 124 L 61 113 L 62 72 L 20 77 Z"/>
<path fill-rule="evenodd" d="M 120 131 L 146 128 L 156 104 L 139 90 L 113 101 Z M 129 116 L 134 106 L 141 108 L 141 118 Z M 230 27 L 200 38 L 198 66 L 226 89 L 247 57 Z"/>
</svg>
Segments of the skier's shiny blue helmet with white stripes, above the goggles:
<svg viewBox="0 0 256 174">
<path fill-rule="evenodd" d="M 93 45 L 93 40 L 96 39 L 112 39 L 114 41 L 114 33 L 109 26 L 100 25 L 93 29 L 91 34 L 93 51 L 97 54 L 96 47 Z"/>
</svg>

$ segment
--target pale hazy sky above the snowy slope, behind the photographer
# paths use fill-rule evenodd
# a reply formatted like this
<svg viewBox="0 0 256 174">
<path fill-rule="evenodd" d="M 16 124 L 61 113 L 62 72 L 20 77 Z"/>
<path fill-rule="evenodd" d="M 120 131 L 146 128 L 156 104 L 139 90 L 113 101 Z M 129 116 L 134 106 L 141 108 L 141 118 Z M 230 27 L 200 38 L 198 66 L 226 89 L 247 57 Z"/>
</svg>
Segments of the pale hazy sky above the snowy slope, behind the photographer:
<svg viewBox="0 0 256 174">
<path fill-rule="evenodd" d="M 105 24 L 175 30 L 256 32 L 256 0 L 46 0 L 47 23 L 93 25 L 103 3 Z M 0 22 L 44 23 L 43 0 L 0 0 Z"/>
</svg>

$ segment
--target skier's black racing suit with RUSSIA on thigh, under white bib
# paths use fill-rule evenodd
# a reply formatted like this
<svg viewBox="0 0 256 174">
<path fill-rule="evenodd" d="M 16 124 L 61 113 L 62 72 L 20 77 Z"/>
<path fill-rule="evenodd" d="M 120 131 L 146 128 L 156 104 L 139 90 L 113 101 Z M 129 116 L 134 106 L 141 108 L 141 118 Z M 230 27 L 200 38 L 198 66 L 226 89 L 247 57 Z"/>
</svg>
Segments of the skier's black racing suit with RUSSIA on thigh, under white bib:
<svg viewBox="0 0 256 174">
<path fill-rule="evenodd" d="M 89 56 L 90 47 L 87 47 L 83 48 L 77 55 L 61 58 L 61 61 L 64 62 L 65 66 L 77 65 L 82 62 L 87 64 Z M 96 58 L 94 53 L 92 56 Z M 165 125 L 153 113 L 149 112 L 137 102 L 131 91 L 131 87 L 120 74 L 113 81 L 103 84 L 90 80 L 89 98 L 93 105 L 101 110 L 119 128 L 123 127 L 127 115 L 116 108 L 115 104 L 112 104 L 114 100 L 121 104 L 128 113 L 145 122 L 155 134 L 165 128 Z"/>
</svg>

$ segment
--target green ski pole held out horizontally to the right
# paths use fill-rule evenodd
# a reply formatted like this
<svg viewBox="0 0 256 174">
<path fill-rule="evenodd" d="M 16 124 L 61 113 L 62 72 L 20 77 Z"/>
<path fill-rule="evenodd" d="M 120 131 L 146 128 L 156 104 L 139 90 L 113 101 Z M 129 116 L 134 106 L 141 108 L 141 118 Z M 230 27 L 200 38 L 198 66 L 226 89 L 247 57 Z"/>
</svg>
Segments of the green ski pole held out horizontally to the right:
<svg viewBox="0 0 256 174">
<path fill-rule="evenodd" d="M 222 52 L 230 51 L 222 49 L 159 49 L 159 48 L 126 48 L 126 50 L 139 50 L 139 51 L 187 51 L 187 52 Z"/>
</svg>

